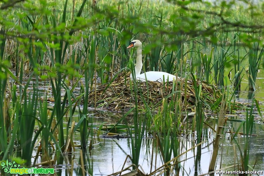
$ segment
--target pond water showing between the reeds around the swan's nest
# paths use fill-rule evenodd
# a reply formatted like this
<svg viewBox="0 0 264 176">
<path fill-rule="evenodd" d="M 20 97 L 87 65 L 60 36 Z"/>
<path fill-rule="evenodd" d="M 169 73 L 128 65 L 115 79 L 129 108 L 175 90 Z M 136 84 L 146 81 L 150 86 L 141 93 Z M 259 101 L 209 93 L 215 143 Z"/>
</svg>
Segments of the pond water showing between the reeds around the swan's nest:
<svg viewBox="0 0 264 176">
<path fill-rule="evenodd" d="M 255 92 L 255 98 L 259 101 L 261 111 L 263 111 L 263 78 L 257 79 L 258 87 L 257 91 Z M 29 90 L 32 87 L 29 87 Z M 32 88 L 33 89 L 33 88 Z M 47 94 L 48 86 L 43 84 L 43 96 Z M 39 90 L 41 90 L 39 89 Z M 239 99 L 237 101 L 248 102 L 247 100 L 247 82 L 245 81 L 241 86 L 241 92 Z M 78 90 L 76 90 L 78 92 Z M 50 104 L 52 106 L 52 103 Z M 261 112 L 264 114 L 263 112 Z M 103 122 L 107 122 L 109 124 L 115 124 L 120 120 L 123 116 L 122 113 L 118 112 L 109 112 L 109 111 L 89 111 L 88 114 L 89 118 L 93 119 L 94 124 L 100 125 Z M 246 111 L 238 111 L 235 115 L 230 116 L 230 118 L 244 120 L 246 116 Z M 259 114 L 255 113 L 255 123 L 253 126 L 253 134 L 254 136 L 250 136 L 250 155 L 249 161 L 250 166 L 253 167 L 254 171 L 263 171 L 264 174 L 264 126 L 263 126 L 263 119 L 259 117 Z M 214 119 L 214 114 L 208 114 L 207 122 L 217 129 L 217 123 Z M 78 115 L 76 115 L 76 121 L 78 121 Z M 133 117 L 128 116 L 127 121 L 132 122 Z M 192 123 L 192 117 L 189 119 L 190 123 Z M 77 122 L 76 122 L 77 123 Z M 226 127 L 224 129 L 225 132 L 228 132 L 228 128 L 232 128 L 233 131 L 236 131 L 237 128 L 240 126 L 241 122 L 234 122 L 234 121 L 227 121 Z M 65 120 L 66 126 L 66 120 Z M 243 132 L 240 130 L 240 132 Z M 208 126 L 204 125 L 203 128 L 203 141 L 204 143 L 201 144 L 201 159 L 198 161 L 198 168 L 197 172 L 195 172 L 195 156 L 197 152 L 196 145 L 196 134 L 193 131 L 188 131 L 188 135 L 182 135 L 178 138 L 179 143 L 179 154 L 184 153 L 178 159 L 180 162 L 180 171 L 179 175 L 206 175 L 208 173 L 208 168 L 213 152 L 213 140 L 215 137 L 215 133 L 212 129 Z M 244 137 L 241 135 L 239 139 L 240 146 L 243 149 L 244 144 Z M 93 166 L 93 175 L 109 175 L 121 171 L 122 168 L 127 168 L 132 165 L 127 155 L 131 156 L 130 148 L 131 148 L 131 139 L 130 138 L 109 138 L 105 137 L 104 135 L 100 135 L 99 137 L 93 137 L 94 144 L 92 149 L 92 157 L 89 157 L 92 161 Z M 76 132 L 74 134 L 74 142 L 75 145 L 78 146 L 80 144 L 80 134 Z M 194 149 L 191 149 L 194 147 Z M 186 152 L 188 149 L 188 152 Z M 37 149 L 36 149 L 37 150 Z M 139 165 L 140 171 L 145 174 L 150 174 L 155 169 L 162 166 L 163 160 L 160 155 L 159 149 L 156 148 L 156 139 L 152 139 L 151 137 L 147 137 L 143 139 L 142 146 L 139 149 L 140 156 L 139 156 Z M 186 153 L 185 153 L 186 152 Z M 242 150 L 243 152 L 243 150 Z M 127 158 L 127 160 L 126 160 Z M 173 158 L 173 157 L 172 157 Z M 87 158 L 86 158 L 87 159 Z M 37 161 L 37 162 L 40 162 Z M 215 170 L 220 168 L 222 171 L 238 171 L 237 165 L 240 163 L 240 151 L 237 149 L 236 143 L 230 140 L 230 133 L 224 133 L 224 136 L 220 140 L 220 147 L 216 162 Z M 230 167 L 233 166 L 233 167 Z M 65 159 L 63 165 L 55 165 L 55 170 L 57 171 L 58 175 L 80 175 L 82 170 L 80 169 L 80 148 L 76 147 L 75 152 L 72 154 L 65 154 Z M 122 172 L 122 174 L 127 173 L 132 170 L 130 169 Z M 229 175 L 229 174 L 221 174 L 221 175 Z M 235 174 L 238 175 L 238 174 Z M 254 175 L 254 174 L 253 174 Z"/>
</svg>

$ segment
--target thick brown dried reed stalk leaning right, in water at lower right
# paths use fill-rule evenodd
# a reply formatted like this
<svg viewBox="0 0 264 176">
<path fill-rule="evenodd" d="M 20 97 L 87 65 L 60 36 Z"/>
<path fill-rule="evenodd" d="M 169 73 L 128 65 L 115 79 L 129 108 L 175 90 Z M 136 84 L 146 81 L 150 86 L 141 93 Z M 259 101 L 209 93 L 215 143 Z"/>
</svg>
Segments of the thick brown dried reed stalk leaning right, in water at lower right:
<svg viewBox="0 0 264 176">
<path fill-rule="evenodd" d="M 214 168 L 215 168 L 215 162 L 216 162 L 218 149 L 219 149 L 219 141 L 220 141 L 220 138 L 222 136 L 222 130 L 223 130 L 223 127 L 224 127 L 226 112 L 227 112 L 226 96 L 224 94 L 223 98 L 222 98 L 221 107 L 220 107 L 219 117 L 218 117 L 216 137 L 215 137 L 215 140 L 214 140 L 214 151 L 213 151 L 213 155 L 212 155 L 211 162 L 210 162 L 210 165 L 209 165 L 209 172 L 214 171 Z M 210 175 L 214 175 L 214 173 L 212 173 Z"/>
</svg>

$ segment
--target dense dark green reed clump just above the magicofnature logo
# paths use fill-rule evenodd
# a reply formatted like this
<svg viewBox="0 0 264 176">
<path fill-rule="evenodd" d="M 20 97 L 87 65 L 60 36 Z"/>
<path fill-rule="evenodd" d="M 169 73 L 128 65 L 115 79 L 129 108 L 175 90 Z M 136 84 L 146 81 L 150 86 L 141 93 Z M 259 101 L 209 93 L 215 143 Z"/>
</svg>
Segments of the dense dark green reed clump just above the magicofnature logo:
<svg viewBox="0 0 264 176">
<path fill-rule="evenodd" d="M 27 51 L 27 55 L 30 55 L 30 50 Z M 33 58 L 31 58 L 32 62 Z M 16 133 L 16 139 L 18 141 L 18 148 L 21 149 L 21 152 L 18 152 L 17 156 L 21 156 L 26 161 L 27 166 L 31 166 L 31 157 L 34 150 L 35 142 L 39 136 L 42 128 L 34 135 L 35 121 L 37 120 L 37 103 L 38 103 L 38 77 L 36 72 L 32 72 L 29 76 L 26 84 L 22 88 L 23 80 L 23 70 L 24 70 L 24 57 L 22 57 L 20 62 L 20 74 L 19 74 L 19 97 L 16 96 L 15 89 L 12 94 L 12 100 L 14 101 L 14 112 L 13 118 L 14 121 L 18 119 L 18 129 L 13 131 Z M 36 68 L 36 64 L 32 63 L 32 68 Z M 31 94 L 27 95 L 27 88 L 33 77 L 36 77 L 35 86 L 33 86 L 32 96 Z M 22 91 L 23 89 L 23 91 Z"/>
</svg>

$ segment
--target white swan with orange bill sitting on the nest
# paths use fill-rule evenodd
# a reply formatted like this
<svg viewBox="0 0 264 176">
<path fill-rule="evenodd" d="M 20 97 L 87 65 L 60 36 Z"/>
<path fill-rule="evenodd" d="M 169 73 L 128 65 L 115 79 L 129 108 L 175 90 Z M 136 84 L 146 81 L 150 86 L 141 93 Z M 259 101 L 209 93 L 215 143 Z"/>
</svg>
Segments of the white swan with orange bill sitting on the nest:
<svg viewBox="0 0 264 176">
<path fill-rule="evenodd" d="M 137 63 L 135 66 L 135 77 L 136 79 L 140 81 L 158 81 L 158 82 L 163 82 L 163 76 L 165 78 L 165 81 L 173 81 L 173 79 L 176 80 L 176 76 L 166 73 L 166 72 L 155 72 L 155 71 L 150 71 L 150 72 L 145 72 L 140 74 L 143 63 L 142 63 L 142 43 L 139 40 L 133 40 L 128 48 L 135 47 L 137 48 Z M 130 74 L 130 78 L 132 78 L 132 73 Z"/>
</svg>

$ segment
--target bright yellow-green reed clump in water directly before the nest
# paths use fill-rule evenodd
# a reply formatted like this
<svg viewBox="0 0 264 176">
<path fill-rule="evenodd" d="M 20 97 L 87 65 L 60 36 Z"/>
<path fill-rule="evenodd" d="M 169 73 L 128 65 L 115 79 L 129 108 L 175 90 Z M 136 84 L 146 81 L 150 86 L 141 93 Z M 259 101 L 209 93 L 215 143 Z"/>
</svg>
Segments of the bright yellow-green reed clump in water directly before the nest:
<svg viewBox="0 0 264 176">
<path fill-rule="evenodd" d="M 163 163 L 165 163 L 164 171 L 166 175 L 170 175 L 171 173 L 173 173 L 173 168 L 175 172 L 178 173 L 180 168 L 179 163 L 175 165 L 170 164 L 172 156 L 174 158 L 177 158 L 179 155 L 178 136 L 179 134 L 181 134 L 181 121 L 179 118 L 179 97 L 181 98 L 181 96 L 178 96 L 178 93 L 180 94 L 180 91 L 177 91 L 176 83 L 176 81 L 173 82 L 172 93 L 170 94 L 170 96 L 164 98 L 163 101 L 159 104 L 161 105 L 161 108 L 156 114 L 151 112 L 148 107 L 147 101 L 140 92 L 141 99 L 143 100 L 146 108 L 145 116 L 148 119 L 145 122 L 146 134 L 153 136 L 152 145 L 154 146 L 156 144 L 156 146 L 158 146 Z M 166 88 L 166 84 L 167 83 L 163 82 L 164 89 Z M 147 89 L 150 89 L 150 87 L 147 87 Z M 172 100 L 168 102 L 168 98 L 170 97 L 172 98 Z M 154 143 L 154 141 L 156 143 Z"/>
</svg>

